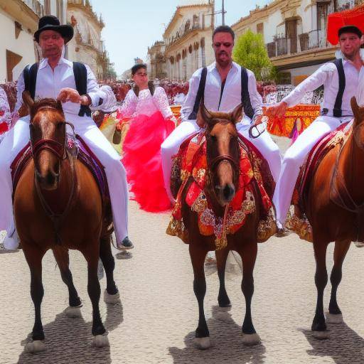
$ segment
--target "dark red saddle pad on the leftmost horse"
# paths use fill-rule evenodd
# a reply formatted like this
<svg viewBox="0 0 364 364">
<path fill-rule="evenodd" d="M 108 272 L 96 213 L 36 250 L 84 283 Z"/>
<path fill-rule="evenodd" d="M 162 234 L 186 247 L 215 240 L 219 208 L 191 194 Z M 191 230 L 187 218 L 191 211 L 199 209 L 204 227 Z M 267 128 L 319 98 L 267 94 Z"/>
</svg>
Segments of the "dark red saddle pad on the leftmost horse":
<svg viewBox="0 0 364 364">
<path fill-rule="evenodd" d="M 75 156 L 79 161 L 82 162 L 92 173 L 95 181 L 97 181 L 97 186 L 100 189 L 102 200 L 109 198 L 109 189 L 107 186 L 107 179 L 105 174 L 104 166 L 95 154 L 92 153 L 90 148 L 87 146 L 85 141 L 78 135 L 76 138 L 68 136 L 66 142 L 66 149 L 69 154 Z M 16 190 L 21 173 L 23 173 L 24 168 L 28 164 L 28 161 L 32 158 L 31 154 L 31 144 L 30 142 L 26 145 L 23 150 L 20 151 L 16 159 L 14 159 L 11 164 L 11 178 L 13 181 L 13 191 Z"/>
</svg>

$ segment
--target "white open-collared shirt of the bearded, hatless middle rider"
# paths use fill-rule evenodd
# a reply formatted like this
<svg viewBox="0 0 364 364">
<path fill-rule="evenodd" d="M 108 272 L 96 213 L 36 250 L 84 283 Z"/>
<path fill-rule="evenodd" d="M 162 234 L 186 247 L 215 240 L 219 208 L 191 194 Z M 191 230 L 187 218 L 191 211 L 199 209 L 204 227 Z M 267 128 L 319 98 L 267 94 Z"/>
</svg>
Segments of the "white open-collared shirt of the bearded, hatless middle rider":
<svg viewBox="0 0 364 364">
<path fill-rule="evenodd" d="M 188 117 L 193 110 L 193 106 L 195 105 L 202 70 L 203 69 L 200 68 L 195 73 L 193 73 L 191 77 L 188 95 L 181 108 L 181 117 L 183 122 L 188 120 Z M 257 115 L 263 113 L 262 97 L 259 95 L 259 92 L 257 92 L 257 81 L 255 80 L 254 73 L 252 73 L 251 70 L 247 70 L 247 75 L 250 102 L 252 103 L 252 108 L 256 117 Z M 218 73 L 218 69 L 216 68 L 216 63 L 214 62 L 213 64 L 209 65 L 204 94 L 205 107 L 213 112 L 231 112 L 242 102 L 241 82 L 241 67 L 237 63 L 232 62 L 232 68 L 226 77 L 223 95 L 221 95 L 222 81 L 220 74 Z"/>
</svg>

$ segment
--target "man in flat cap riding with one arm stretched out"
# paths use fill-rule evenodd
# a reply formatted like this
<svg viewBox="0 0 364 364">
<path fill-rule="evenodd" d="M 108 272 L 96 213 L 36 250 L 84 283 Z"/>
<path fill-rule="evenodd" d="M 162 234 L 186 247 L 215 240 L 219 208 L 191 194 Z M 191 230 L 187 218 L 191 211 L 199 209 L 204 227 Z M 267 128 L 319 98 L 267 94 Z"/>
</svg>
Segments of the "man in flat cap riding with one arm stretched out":
<svg viewBox="0 0 364 364">
<path fill-rule="evenodd" d="M 360 45 L 363 35 L 356 26 L 343 26 L 338 31 L 341 48 L 338 58 L 325 63 L 314 74 L 301 82 L 282 102 L 269 107 L 267 114 L 282 116 L 287 107 L 298 104 L 304 94 L 324 86 L 321 116 L 318 117 L 286 151 L 282 162 L 282 171 L 274 191 L 273 203 L 277 210 L 278 235 L 286 235 L 284 222 L 287 217 L 291 196 L 294 191 L 299 168 L 304 158 L 324 135 L 332 132 L 343 122 L 353 117 L 350 99 L 358 90 L 360 73 L 364 73 L 363 60 L 360 58 Z"/>
</svg>

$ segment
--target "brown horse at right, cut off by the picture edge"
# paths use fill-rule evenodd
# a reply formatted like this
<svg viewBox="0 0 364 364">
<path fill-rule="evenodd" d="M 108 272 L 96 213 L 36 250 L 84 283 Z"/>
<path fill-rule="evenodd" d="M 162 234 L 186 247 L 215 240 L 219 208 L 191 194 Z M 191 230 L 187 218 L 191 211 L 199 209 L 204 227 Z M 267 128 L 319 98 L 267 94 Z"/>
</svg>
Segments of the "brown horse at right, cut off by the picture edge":
<svg viewBox="0 0 364 364">
<path fill-rule="evenodd" d="M 327 338 L 323 315 L 323 291 L 328 281 L 326 250 L 335 242 L 331 272 L 331 299 L 328 322 L 342 321 L 336 292 L 342 277 L 342 265 L 352 241 L 364 240 L 364 108 L 353 97 L 353 127 L 346 142 L 326 154 L 309 186 L 306 214 L 312 226 L 316 258 L 316 314 L 312 323 L 314 336 Z"/>
</svg>

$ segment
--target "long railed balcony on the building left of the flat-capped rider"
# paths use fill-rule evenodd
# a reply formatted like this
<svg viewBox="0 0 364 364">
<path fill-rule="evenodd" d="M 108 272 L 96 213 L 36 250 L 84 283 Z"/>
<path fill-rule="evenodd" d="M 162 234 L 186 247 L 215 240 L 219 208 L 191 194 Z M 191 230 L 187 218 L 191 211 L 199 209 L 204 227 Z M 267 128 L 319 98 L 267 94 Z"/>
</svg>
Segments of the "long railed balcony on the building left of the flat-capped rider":
<svg viewBox="0 0 364 364">
<path fill-rule="evenodd" d="M 328 48 L 326 41 L 326 30 L 310 31 L 301 33 L 296 38 L 287 38 L 284 36 L 275 36 L 274 41 L 267 43 L 269 58 L 280 57 L 284 55 L 294 55 L 306 50 Z"/>
</svg>

